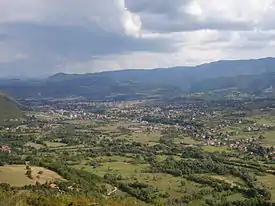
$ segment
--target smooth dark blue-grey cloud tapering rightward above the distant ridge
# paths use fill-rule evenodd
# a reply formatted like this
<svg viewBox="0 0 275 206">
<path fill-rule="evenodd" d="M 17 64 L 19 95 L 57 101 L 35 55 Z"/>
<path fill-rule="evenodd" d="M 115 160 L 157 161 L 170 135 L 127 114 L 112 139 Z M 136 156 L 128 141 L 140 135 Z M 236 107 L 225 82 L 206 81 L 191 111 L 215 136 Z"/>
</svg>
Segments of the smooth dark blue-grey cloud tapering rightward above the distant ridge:
<svg viewBox="0 0 275 206">
<path fill-rule="evenodd" d="M 130 51 L 167 52 L 173 44 L 164 38 L 134 38 L 104 31 L 96 25 L 89 28 L 37 24 L 2 25 L 7 34 L 35 49 L 58 56 L 85 59 L 98 55 L 119 54 Z"/>
</svg>

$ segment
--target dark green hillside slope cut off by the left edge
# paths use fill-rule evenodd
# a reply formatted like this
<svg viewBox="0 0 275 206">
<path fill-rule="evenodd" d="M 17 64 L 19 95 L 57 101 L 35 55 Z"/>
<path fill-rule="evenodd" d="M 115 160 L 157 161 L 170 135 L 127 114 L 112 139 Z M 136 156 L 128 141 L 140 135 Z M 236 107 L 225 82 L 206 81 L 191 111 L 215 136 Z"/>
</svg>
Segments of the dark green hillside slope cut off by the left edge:
<svg viewBox="0 0 275 206">
<path fill-rule="evenodd" d="M 18 104 L 9 96 L 0 93 L 0 123 L 6 119 L 23 117 Z"/>
</svg>

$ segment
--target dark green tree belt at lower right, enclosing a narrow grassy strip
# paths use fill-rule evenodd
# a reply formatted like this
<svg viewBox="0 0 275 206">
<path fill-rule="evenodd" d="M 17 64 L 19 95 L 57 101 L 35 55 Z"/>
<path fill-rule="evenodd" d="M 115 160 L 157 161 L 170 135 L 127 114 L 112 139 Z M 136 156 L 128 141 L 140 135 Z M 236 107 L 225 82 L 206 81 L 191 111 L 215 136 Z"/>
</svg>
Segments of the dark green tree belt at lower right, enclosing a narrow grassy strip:
<svg viewBox="0 0 275 206">
<path fill-rule="evenodd" d="M 271 193 L 266 188 L 263 188 L 256 184 L 256 179 L 253 173 L 251 173 L 246 167 L 236 167 L 237 163 L 225 164 L 225 159 L 216 154 L 204 154 L 197 149 L 188 149 L 189 152 L 184 151 L 182 156 L 185 158 L 180 161 L 175 160 L 173 157 L 169 157 L 162 162 L 153 162 L 151 164 L 151 172 L 168 173 L 178 177 L 184 177 L 190 181 L 200 184 L 211 186 L 215 191 L 235 191 L 241 192 L 243 195 L 253 198 L 264 198 L 269 200 Z M 248 164 L 247 164 L 248 165 Z M 237 166 L 240 166 L 237 164 Z M 245 166 L 245 165 L 244 165 Z M 255 171 L 263 168 L 257 168 L 256 166 L 249 165 L 250 168 Z M 193 174 L 207 174 L 215 173 L 219 175 L 233 175 L 242 179 L 245 183 L 244 186 L 233 185 L 223 180 L 217 180 L 209 178 L 207 176 L 198 176 Z"/>
</svg>

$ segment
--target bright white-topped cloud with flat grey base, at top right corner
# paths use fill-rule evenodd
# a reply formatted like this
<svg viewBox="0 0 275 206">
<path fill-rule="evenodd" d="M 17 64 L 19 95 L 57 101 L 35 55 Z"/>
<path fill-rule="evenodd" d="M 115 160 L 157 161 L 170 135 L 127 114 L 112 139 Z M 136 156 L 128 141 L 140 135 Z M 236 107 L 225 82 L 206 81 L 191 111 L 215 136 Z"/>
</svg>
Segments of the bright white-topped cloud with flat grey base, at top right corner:
<svg viewBox="0 0 275 206">
<path fill-rule="evenodd" d="M 266 29 L 275 17 L 274 0 L 128 0 L 131 11 L 140 15 L 145 29 L 155 32 L 186 30 Z M 268 18 L 268 19 L 267 19 Z"/>
</svg>

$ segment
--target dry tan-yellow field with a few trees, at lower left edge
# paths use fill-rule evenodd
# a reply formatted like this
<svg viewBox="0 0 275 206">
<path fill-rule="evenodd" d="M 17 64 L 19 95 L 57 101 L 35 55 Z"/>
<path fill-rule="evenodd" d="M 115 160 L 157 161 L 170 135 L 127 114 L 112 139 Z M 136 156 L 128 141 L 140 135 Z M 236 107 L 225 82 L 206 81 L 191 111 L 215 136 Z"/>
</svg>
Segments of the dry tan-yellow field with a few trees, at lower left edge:
<svg viewBox="0 0 275 206">
<path fill-rule="evenodd" d="M 24 185 L 35 185 L 36 181 L 44 184 L 45 182 L 62 180 L 63 178 L 57 173 L 48 170 L 43 167 L 34 167 L 31 166 L 32 177 L 33 179 L 28 178 L 26 173 L 25 165 L 6 165 L 0 167 L 0 182 L 8 183 L 12 186 L 21 187 Z M 38 174 L 39 171 L 42 171 L 42 174 Z M 38 178 L 39 175 L 39 178 Z"/>
</svg>

